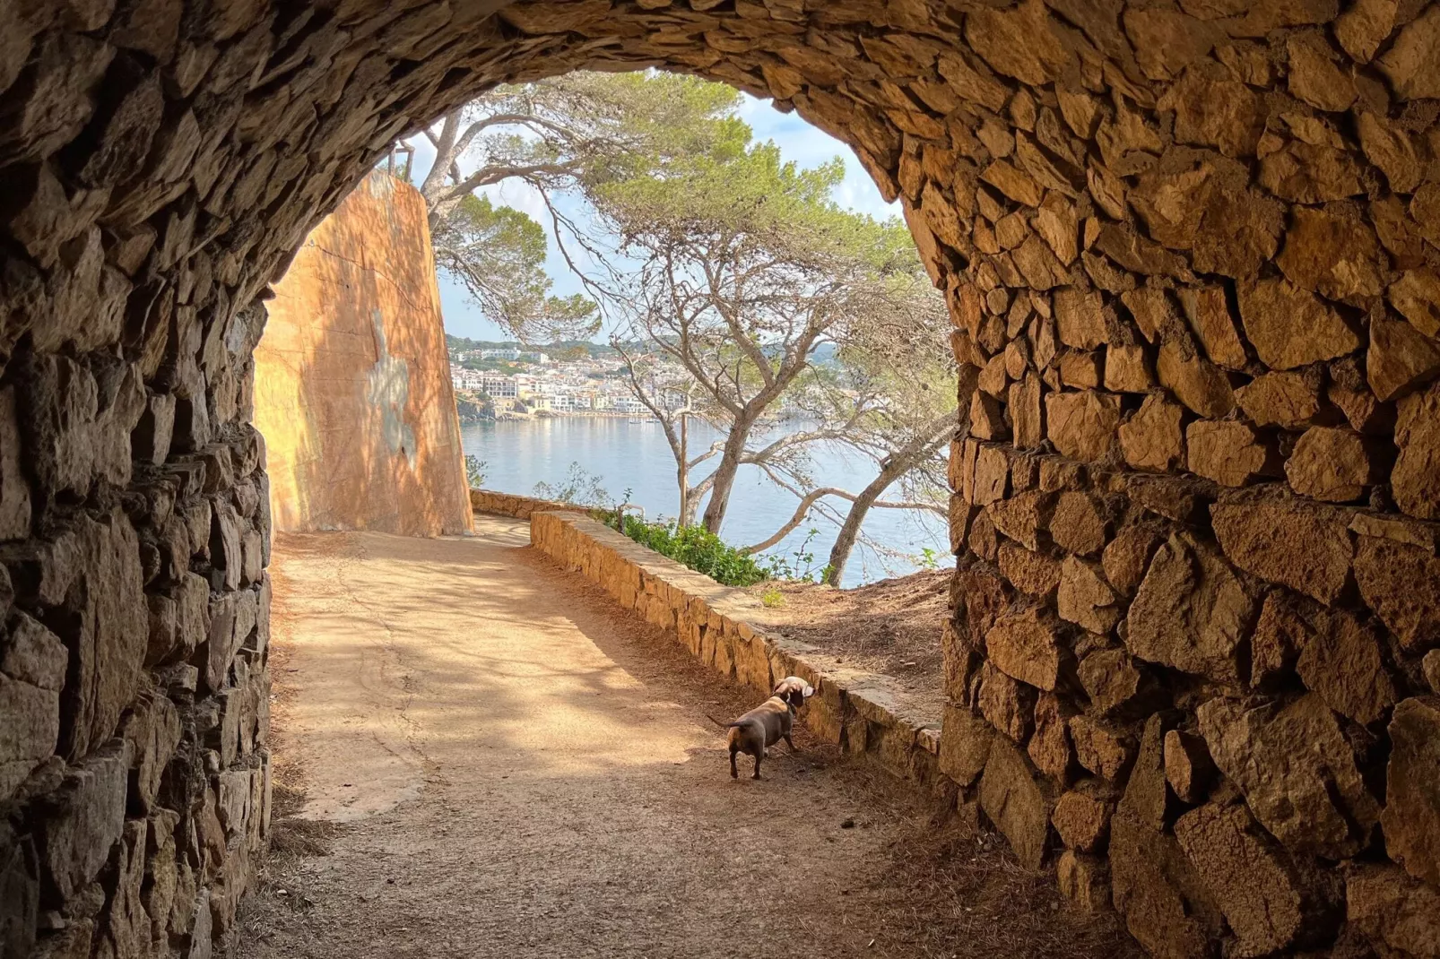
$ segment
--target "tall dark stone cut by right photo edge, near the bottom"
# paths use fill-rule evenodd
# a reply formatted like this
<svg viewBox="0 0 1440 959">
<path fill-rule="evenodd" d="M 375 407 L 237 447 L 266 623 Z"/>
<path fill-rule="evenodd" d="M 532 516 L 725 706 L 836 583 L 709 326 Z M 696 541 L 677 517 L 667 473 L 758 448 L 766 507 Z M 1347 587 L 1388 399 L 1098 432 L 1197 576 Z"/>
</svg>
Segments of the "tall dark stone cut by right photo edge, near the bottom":
<svg viewBox="0 0 1440 959">
<path fill-rule="evenodd" d="M 1380 825 L 1407 873 L 1440 886 L 1440 697 L 1418 695 L 1390 720 L 1390 766 Z"/>
</svg>

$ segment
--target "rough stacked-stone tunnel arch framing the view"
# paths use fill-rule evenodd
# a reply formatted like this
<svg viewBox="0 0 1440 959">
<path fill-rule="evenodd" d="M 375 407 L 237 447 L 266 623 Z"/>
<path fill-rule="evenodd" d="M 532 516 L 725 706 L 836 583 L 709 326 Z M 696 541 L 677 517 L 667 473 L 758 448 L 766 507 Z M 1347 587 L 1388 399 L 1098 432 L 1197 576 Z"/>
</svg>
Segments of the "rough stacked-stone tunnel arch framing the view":
<svg viewBox="0 0 1440 959">
<path fill-rule="evenodd" d="M 949 301 L 945 775 L 1156 955 L 1440 953 L 1427 0 L 0 3 L 3 949 L 245 886 L 268 284 L 399 134 L 647 66 L 852 144 Z"/>
</svg>

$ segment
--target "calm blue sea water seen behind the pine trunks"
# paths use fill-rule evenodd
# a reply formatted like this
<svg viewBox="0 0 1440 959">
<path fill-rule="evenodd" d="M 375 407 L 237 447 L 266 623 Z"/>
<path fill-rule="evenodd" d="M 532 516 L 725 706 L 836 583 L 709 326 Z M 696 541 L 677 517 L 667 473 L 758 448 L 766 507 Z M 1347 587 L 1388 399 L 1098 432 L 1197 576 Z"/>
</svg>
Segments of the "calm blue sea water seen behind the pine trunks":
<svg viewBox="0 0 1440 959">
<path fill-rule="evenodd" d="M 700 422 L 691 422 L 691 456 L 717 436 Z M 629 422 L 624 418 L 557 418 L 501 420 L 461 425 L 465 452 L 485 461 L 485 487 L 501 492 L 533 495 L 537 482 L 563 482 L 570 464 L 600 478 L 600 485 L 616 500 L 629 490 L 629 501 L 645 508 L 647 518 L 674 517 L 678 511 L 675 461 L 660 423 Z M 691 484 L 710 472 L 711 464 L 697 468 Z M 854 452 L 827 446 L 812 454 L 811 472 L 819 485 L 858 492 L 874 477 L 874 464 Z M 734 546 L 759 543 L 773 534 L 795 513 L 796 498 L 769 482 L 756 467 L 742 467 L 730 494 L 724 528 L 720 534 Z M 831 498 L 837 507 L 848 504 Z M 704 504 L 701 503 L 701 510 Z M 698 515 L 698 511 L 697 511 Z M 809 528 L 819 530 L 805 546 L 815 554 L 815 569 L 825 564 L 838 527 L 815 511 L 809 521 L 770 554 L 795 562 Z M 912 573 L 924 547 L 936 551 L 940 563 L 949 556 L 945 521 L 933 513 L 916 510 L 871 510 L 864 534 L 881 549 L 864 543 L 855 547 L 845 566 L 845 586 Z"/>
</svg>

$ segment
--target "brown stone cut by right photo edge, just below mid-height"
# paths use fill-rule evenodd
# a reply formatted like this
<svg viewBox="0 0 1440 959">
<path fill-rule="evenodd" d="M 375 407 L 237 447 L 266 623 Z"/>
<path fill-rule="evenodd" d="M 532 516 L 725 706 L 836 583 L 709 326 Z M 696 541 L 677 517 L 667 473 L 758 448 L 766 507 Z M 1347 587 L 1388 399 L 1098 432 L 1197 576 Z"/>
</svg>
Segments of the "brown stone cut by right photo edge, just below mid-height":
<svg viewBox="0 0 1440 959">
<path fill-rule="evenodd" d="M 1365 603 L 1403 649 L 1440 645 L 1440 559 L 1410 543 L 1374 536 L 1356 540 L 1355 583 Z"/>
</svg>

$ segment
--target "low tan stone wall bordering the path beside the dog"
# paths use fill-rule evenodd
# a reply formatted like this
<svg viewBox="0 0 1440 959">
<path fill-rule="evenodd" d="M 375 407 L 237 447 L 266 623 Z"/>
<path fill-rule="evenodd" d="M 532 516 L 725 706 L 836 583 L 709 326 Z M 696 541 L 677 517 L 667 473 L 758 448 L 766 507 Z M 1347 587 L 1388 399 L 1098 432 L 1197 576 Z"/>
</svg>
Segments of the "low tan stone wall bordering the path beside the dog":
<svg viewBox="0 0 1440 959">
<path fill-rule="evenodd" d="M 907 711 L 890 677 L 845 668 L 816 647 L 780 636 L 753 596 L 685 569 L 589 517 L 536 511 L 530 515 L 530 541 L 647 622 L 675 634 L 720 675 L 757 694 L 768 694 L 786 675 L 804 678 L 815 687 L 815 697 L 801 719 L 825 742 L 850 753 L 867 753 L 917 785 L 939 783 L 940 716 Z"/>
</svg>

